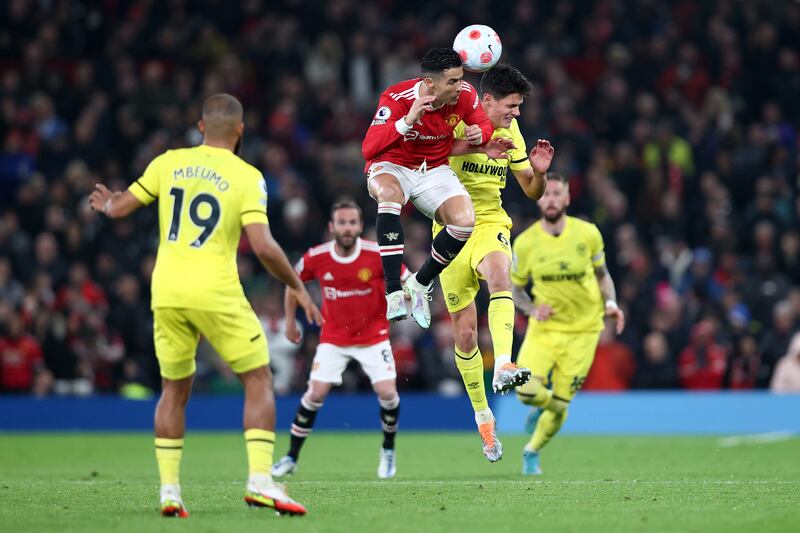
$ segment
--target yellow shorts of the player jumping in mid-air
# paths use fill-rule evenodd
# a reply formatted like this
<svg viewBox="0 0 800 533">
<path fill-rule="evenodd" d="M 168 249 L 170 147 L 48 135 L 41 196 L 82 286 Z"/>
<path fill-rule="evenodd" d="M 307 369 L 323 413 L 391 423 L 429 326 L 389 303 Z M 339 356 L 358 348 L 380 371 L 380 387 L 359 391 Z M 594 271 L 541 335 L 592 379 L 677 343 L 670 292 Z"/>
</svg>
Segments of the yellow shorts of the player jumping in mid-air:
<svg viewBox="0 0 800 533">
<path fill-rule="evenodd" d="M 511 258 L 511 230 L 505 224 L 479 225 L 453 262 L 439 274 L 442 293 L 450 313 L 461 311 L 475 300 L 483 276 L 476 270 L 484 257 L 502 252 Z"/>
</svg>

